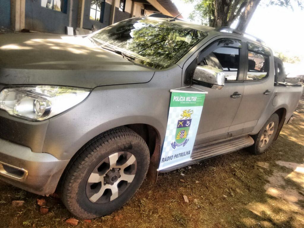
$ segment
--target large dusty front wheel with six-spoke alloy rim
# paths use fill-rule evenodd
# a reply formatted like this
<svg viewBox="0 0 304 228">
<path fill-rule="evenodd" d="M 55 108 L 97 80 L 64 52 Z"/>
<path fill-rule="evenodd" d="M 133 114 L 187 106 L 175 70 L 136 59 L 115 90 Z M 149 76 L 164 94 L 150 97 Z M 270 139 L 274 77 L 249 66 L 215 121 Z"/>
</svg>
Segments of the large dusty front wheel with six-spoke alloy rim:
<svg viewBox="0 0 304 228">
<path fill-rule="evenodd" d="M 126 127 L 106 131 L 70 161 L 62 178 L 61 199 L 81 219 L 110 214 L 135 194 L 149 162 L 148 146 L 134 131 Z"/>
</svg>

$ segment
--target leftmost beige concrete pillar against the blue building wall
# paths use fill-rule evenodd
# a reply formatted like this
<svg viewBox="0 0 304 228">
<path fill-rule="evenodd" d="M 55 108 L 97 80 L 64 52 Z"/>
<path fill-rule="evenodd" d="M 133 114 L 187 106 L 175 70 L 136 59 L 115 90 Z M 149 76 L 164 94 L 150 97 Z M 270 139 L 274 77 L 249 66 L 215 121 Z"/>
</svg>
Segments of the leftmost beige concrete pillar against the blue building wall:
<svg viewBox="0 0 304 228">
<path fill-rule="evenodd" d="M 21 31 L 25 25 L 25 0 L 11 0 L 11 28 Z"/>
</svg>

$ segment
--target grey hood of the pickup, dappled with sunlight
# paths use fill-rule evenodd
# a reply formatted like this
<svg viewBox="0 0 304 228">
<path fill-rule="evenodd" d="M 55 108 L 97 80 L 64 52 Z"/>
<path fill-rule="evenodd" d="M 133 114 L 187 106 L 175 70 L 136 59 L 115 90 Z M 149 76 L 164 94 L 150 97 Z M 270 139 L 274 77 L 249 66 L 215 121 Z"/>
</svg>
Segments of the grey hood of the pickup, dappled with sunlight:
<svg viewBox="0 0 304 228">
<path fill-rule="evenodd" d="M 144 83 L 154 70 L 96 47 L 88 38 L 43 33 L 0 35 L 0 83 L 101 85 Z"/>
</svg>

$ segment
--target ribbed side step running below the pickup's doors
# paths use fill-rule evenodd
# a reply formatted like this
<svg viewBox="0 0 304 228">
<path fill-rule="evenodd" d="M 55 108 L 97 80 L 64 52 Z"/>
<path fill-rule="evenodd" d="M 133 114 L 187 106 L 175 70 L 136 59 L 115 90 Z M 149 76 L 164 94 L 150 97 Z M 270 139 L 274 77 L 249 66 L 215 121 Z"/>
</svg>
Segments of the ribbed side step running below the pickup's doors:
<svg viewBox="0 0 304 228">
<path fill-rule="evenodd" d="M 193 147 L 191 158 L 192 160 L 160 170 L 159 172 L 165 173 L 178 168 L 185 167 L 190 164 L 198 163 L 199 161 L 208 159 L 210 157 L 227 154 L 236 150 L 249 147 L 254 144 L 253 138 L 249 135 L 241 136 L 217 143 L 206 143 L 203 145 Z"/>
</svg>

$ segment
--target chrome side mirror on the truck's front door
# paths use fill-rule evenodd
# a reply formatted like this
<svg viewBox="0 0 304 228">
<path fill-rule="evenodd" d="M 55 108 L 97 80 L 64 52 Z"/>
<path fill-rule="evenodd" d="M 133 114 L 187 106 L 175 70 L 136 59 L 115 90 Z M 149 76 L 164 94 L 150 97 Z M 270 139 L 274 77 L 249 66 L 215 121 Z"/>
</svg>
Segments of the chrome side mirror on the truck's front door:
<svg viewBox="0 0 304 228">
<path fill-rule="evenodd" d="M 192 82 L 212 89 L 221 89 L 225 82 L 225 73 L 211 66 L 197 66 Z"/>
</svg>

